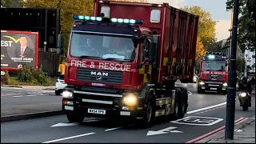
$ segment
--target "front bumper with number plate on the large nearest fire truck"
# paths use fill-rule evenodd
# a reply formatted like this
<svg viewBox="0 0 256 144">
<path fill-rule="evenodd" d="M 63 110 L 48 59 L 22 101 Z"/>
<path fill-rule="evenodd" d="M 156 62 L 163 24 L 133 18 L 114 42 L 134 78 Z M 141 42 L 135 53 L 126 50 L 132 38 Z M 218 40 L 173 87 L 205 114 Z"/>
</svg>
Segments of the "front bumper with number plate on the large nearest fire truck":
<svg viewBox="0 0 256 144">
<path fill-rule="evenodd" d="M 62 110 L 67 113 L 84 114 L 94 118 L 143 118 L 142 101 L 126 106 L 122 94 L 103 94 L 88 91 L 73 91 L 73 98 L 62 98 Z M 90 110 L 94 109 L 94 110 Z"/>
</svg>

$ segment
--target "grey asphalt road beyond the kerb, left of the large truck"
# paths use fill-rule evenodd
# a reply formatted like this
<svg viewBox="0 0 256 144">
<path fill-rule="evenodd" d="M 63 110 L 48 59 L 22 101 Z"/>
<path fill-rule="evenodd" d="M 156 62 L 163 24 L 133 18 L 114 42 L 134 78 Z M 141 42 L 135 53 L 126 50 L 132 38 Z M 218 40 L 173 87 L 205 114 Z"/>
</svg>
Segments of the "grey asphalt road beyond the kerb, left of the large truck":
<svg viewBox="0 0 256 144">
<path fill-rule="evenodd" d="M 62 97 L 54 90 L 26 90 L 1 86 L 1 117 L 62 110 Z"/>
</svg>

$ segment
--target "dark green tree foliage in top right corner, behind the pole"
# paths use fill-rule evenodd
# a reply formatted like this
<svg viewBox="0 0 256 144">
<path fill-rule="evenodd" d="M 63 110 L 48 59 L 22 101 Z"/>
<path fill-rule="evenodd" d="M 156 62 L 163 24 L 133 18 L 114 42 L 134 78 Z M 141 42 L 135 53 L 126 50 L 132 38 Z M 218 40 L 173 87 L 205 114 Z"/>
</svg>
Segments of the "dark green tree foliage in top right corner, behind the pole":
<svg viewBox="0 0 256 144">
<path fill-rule="evenodd" d="M 227 0 L 226 10 L 232 10 L 233 0 Z M 249 10 L 255 11 L 255 0 L 239 0 L 238 44 L 241 50 L 255 50 L 255 21 Z"/>
</svg>

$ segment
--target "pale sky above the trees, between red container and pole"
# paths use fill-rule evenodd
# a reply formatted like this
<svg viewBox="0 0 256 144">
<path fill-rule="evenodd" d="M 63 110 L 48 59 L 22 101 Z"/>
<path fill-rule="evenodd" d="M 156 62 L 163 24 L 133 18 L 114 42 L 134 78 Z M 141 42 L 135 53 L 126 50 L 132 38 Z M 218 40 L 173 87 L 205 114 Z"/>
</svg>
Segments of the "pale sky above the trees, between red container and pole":
<svg viewBox="0 0 256 144">
<path fill-rule="evenodd" d="M 167 2 L 170 6 L 180 8 L 182 6 L 200 6 L 202 10 L 210 12 L 212 18 L 218 21 L 216 25 L 216 37 L 218 41 L 230 36 L 230 11 L 226 11 L 226 0 L 148 0 L 150 3 Z"/>
</svg>

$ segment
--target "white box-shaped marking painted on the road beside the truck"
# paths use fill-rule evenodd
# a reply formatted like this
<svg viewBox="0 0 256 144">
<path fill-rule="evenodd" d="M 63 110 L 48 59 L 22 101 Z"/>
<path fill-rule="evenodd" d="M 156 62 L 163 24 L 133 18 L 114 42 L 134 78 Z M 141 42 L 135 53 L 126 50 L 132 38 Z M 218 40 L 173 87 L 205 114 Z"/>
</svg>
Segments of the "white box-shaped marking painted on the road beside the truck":
<svg viewBox="0 0 256 144">
<path fill-rule="evenodd" d="M 178 119 L 176 121 L 171 121 L 172 123 L 178 123 L 182 125 L 197 125 L 197 126 L 213 126 L 218 122 L 222 122 L 222 118 L 210 118 L 210 117 L 186 117 Z"/>
</svg>

